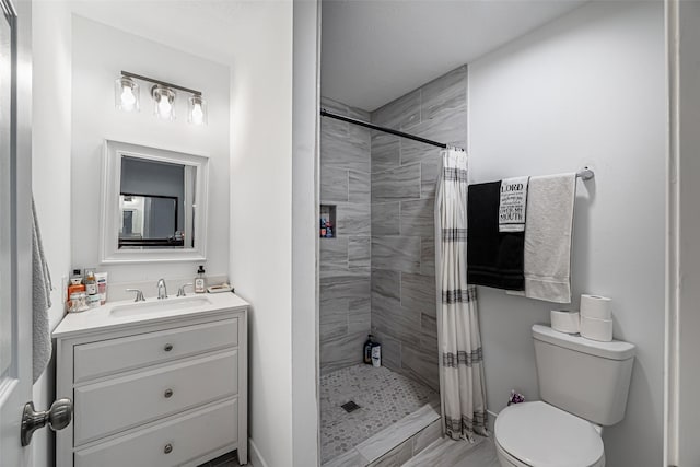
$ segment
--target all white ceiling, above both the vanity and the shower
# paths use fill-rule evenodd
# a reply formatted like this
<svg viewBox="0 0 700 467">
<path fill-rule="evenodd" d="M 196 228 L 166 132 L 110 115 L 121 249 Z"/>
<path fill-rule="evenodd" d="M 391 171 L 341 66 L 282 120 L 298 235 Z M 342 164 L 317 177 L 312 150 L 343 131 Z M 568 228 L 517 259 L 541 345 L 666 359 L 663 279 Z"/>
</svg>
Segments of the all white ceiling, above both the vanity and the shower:
<svg viewBox="0 0 700 467">
<path fill-rule="evenodd" d="M 322 93 L 374 110 L 587 0 L 323 0 Z M 80 15 L 235 63 L 276 0 L 78 0 Z M 264 57 L 260 57 L 264 59 Z"/>
</svg>

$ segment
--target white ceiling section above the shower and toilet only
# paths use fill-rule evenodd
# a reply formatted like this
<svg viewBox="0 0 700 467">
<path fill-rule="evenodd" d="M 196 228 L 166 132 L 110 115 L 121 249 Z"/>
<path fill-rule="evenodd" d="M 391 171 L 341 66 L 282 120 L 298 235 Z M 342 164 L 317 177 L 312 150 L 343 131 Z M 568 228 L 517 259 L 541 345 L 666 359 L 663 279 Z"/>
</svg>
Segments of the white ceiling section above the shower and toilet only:
<svg viewBox="0 0 700 467">
<path fill-rule="evenodd" d="M 323 0 L 322 94 L 374 110 L 585 0 Z"/>
</svg>

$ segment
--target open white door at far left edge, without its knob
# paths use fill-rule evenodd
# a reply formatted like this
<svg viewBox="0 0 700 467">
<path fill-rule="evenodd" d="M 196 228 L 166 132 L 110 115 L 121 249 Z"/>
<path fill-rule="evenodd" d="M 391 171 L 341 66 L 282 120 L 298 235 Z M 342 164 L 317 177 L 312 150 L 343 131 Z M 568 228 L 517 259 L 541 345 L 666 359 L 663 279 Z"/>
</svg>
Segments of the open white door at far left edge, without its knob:
<svg viewBox="0 0 700 467">
<path fill-rule="evenodd" d="M 16 10 L 20 8 L 21 10 Z M 31 466 L 31 3 L 0 0 L 0 465 Z"/>
</svg>

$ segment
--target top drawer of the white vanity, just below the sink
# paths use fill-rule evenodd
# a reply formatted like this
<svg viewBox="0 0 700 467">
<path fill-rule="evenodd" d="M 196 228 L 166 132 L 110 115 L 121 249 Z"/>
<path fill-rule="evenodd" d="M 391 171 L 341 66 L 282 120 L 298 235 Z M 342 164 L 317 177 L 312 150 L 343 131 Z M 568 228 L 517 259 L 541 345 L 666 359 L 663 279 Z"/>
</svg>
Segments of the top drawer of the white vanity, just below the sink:
<svg viewBox="0 0 700 467">
<path fill-rule="evenodd" d="M 80 383 L 237 345 L 237 318 L 83 343 L 74 348 L 73 377 Z"/>
</svg>

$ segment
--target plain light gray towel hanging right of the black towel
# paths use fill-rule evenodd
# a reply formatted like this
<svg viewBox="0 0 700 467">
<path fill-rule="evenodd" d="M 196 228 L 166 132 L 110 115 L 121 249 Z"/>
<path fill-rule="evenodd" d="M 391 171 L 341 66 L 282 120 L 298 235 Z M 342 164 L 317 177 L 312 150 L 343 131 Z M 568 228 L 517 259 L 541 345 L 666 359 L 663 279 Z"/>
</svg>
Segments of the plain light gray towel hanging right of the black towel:
<svg viewBox="0 0 700 467">
<path fill-rule="evenodd" d="M 571 237 L 576 174 L 530 177 L 525 224 L 525 293 L 571 303 Z M 509 292 L 522 295 L 523 292 Z"/>
</svg>

